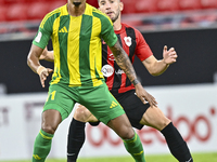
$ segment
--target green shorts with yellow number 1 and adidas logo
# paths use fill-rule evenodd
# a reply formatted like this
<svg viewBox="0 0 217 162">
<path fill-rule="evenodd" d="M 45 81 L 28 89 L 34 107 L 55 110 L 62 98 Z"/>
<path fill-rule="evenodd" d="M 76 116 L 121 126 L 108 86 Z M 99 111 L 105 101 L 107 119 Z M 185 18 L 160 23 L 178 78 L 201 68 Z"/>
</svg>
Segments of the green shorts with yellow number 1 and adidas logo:
<svg viewBox="0 0 217 162">
<path fill-rule="evenodd" d="M 110 120 L 125 113 L 104 82 L 99 86 L 76 87 L 52 84 L 49 87 L 49 95 L 43 111 L 55 109 L 60 111 L 62 120 L 64 120 L 72 112 L 75 103 L 87 107 L 91 113 L 104 124 L 107 124 Z"/>
</svg>

